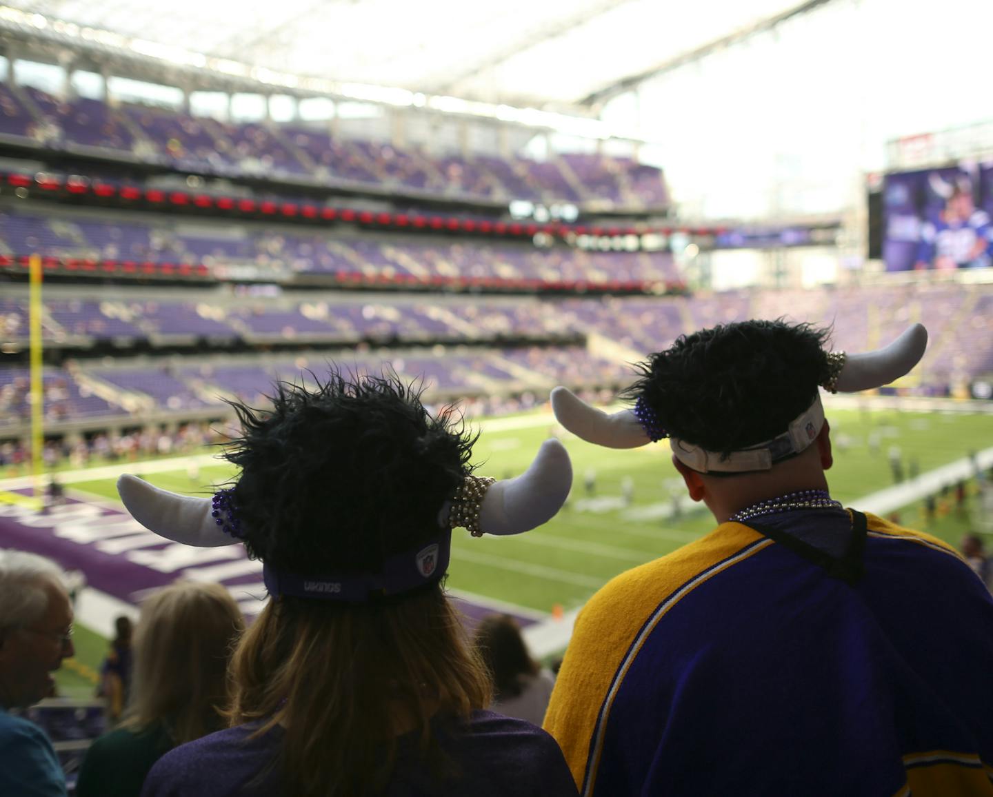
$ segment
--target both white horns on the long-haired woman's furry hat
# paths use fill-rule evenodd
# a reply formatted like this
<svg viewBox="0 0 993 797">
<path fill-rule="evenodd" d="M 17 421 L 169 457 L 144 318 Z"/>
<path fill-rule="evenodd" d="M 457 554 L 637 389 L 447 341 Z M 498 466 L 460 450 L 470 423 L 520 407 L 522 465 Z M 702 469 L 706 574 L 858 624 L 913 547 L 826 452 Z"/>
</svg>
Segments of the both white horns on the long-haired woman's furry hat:
<svg viewBox="0 0 993 797">
<path fill-rule="evenodd" d="M 470 477 L 473 478 L 473 477 Z M 489 534 L 520 534 L 550 520 L 565 503 L 572 486 L 572 465 L 557 440 L 541 444 L 530 467 L 515 478 L 493 483 L 479 513 L 479 530 Z M 218 522 L 211 498 L 180 495 L 124 473 L 117 492 L 131 516 L 149 531 L 168 540 L 210 548 L 240 542 Z M 450 502 L 439 512 L 447 525 Z"/>
</svg>

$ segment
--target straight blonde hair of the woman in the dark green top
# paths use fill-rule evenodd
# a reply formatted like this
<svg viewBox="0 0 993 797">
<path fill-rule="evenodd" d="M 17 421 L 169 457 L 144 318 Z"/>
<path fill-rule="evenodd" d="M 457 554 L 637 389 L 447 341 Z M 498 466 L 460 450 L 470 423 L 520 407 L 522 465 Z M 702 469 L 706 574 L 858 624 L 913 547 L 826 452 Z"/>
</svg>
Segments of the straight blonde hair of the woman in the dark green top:
<svg viewBox="0 0 993 797">
<path fill-rule="evenodd" d="M 178 582 L 141 606 L 123 726 L 163 724 L 176 744 L 224 727 L 227 665 L 244 618 L 217 584 Z"/>
</svg>

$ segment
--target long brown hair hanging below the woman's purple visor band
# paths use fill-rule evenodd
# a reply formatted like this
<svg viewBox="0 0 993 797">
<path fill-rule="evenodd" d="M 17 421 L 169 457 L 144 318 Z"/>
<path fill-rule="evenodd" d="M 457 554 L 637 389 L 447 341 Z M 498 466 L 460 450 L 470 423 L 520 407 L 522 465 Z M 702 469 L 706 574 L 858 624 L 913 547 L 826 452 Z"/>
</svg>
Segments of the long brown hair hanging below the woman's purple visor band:
<svg viewBox="0 0 993 797">
<path fill-rule="evenodd" d="M 381 791 L 396 737 L 411 731 L 428 770 L 456 776 L 435 721 L 466 721 L 490 702 L 486 671 L 438 584 L 378 603 L 273 599 L 231 671 L 231 722 L 285 729 L 274 765 L 286 794 Z"/>
</svg>

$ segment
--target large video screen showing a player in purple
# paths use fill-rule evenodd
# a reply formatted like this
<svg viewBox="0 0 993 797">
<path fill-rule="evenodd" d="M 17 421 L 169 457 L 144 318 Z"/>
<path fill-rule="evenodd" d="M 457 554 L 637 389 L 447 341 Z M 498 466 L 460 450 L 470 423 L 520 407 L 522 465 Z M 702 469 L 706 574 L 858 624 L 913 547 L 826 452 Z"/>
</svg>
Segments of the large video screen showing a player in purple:
<svg viewBox="0 0 993 797">
<path fill-rule="evenodd" d="M 890 174 L 883 191 L 888 271 L 993 265 L 993 163 Z"/>
</svg>

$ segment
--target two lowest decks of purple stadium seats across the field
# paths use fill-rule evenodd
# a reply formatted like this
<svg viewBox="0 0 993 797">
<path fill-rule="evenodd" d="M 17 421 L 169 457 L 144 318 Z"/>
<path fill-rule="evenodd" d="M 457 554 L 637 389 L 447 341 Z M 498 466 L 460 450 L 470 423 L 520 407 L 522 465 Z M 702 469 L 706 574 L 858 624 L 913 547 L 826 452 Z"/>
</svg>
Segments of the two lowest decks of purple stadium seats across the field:
<svg viewBox="0 0 993 797">
<path fill-rule="evenodd" d="M 221 397 L 254 402 L 274 379 L 308 378 L 307 369 L 320 372 L 329 360 L 358 372 L 387 364 L 404 377 L 424 377 L 432 398 L 541 393 L 555 384 L 614 390 L 632 379 L 632 362 L 679 334 L 746 318 L 833 324 L 832 345 L 850 350 L 885 343 L 922 319 L 931 340 L 920 374 L 905 388 L 913 393 L 945 395 L 993 372 L 993 289 L 977 286 L 544 301 L 213 292 L 153 299 L 131 290 L 103 299 L 49 297 L 45 310 L 46 340 L 68 350 L 130 340 L 190 352 L 178 362 L 120 357 L 107 367 L 80 358 L 71 369 L 48 368 L 45 414 L 53 422 L 155 411 L 202 417 L 223 409 Z M 26 339 L 27 316 L 26 298 L 0 300 L 9 339 Z M 293 351 L 212 353 L 235 341 Z M 0 426 L 26 422 L 27 390 L 26 368 L 0 366 Z"/>
</svg>

